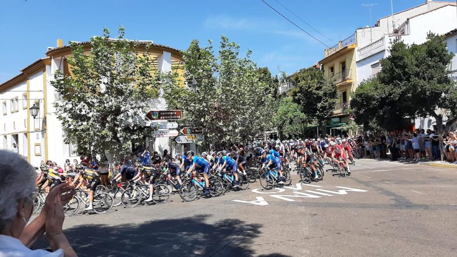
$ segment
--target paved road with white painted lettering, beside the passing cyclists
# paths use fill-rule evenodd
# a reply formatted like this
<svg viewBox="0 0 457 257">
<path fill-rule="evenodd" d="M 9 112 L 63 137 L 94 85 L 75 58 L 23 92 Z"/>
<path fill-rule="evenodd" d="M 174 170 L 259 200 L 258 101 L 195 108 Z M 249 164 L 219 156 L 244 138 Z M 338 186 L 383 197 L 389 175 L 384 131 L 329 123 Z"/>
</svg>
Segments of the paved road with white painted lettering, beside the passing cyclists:
<svg viewBox="0 0 457 257">
<path fill-rule="evenodd" d="M 68 217 L 80 256 L 455 256 L 457 169 L 358 160 L 350 177 Z M 46 246 L 40 240 L 38 246 Z"/>
</svg>

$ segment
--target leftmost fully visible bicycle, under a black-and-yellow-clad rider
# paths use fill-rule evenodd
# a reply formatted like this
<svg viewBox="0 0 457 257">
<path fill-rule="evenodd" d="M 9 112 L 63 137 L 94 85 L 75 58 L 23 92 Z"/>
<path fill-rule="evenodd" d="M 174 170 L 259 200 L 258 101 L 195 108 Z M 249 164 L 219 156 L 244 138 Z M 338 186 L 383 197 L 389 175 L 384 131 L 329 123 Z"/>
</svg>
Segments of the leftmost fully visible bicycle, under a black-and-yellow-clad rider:
<svg viewBox="0 0 457 257">
<path fill-rule="evenodd" d="M 81 189 L 77 189 L 82 191 Z M 80 194 L 76 194 L 65 206 L 63 206 L 63 213 L 65 216 L 75 215 L 81 206 L 81 203 L 85 207 L 89 206 L 89 199 L 86 197 L 81 197 Z M 93 211 L 98 214 L 107 213 L 113 208 L 113 197 L 106 192 L 97 192 L 93 196 Z"/>
</svg>

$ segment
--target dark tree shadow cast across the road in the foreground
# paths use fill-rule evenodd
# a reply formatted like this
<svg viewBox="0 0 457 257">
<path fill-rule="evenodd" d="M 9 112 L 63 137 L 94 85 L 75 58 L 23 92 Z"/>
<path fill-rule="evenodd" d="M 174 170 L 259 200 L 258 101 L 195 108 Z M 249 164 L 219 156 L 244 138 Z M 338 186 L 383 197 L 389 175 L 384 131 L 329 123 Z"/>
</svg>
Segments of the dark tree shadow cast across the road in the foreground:
<svg viewBox="0 0 457 257">
<path fill-rule="evenodd" d="M 256 223 L 223 219 L 214 224 L 210 215 L 151 220 L 137 224 L 81 225 L 65 230 L 79 256 L 252 256 L 250 245 L 260 236 Z M 128 220 L 125 220 L 128 221 Z M 48 247 L 45 238 L 35 245 Z M 285 256 L 272 253 L 265 256 Z"/>
</svg>

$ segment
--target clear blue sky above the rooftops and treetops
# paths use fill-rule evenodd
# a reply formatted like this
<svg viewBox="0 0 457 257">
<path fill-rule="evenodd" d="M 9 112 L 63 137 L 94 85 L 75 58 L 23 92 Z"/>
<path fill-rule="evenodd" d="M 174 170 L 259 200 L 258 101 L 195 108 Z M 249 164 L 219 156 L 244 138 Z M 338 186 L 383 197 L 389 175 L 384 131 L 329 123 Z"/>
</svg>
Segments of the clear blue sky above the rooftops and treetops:
<svg viewBox="0 0 457 257">
<path fill-rule="evenodd" d="M 186 49 L 193 39 L 202 46 L 212 40 L 215 49 L 221 35 L 250 49 L 259 67 L 273 75 L 292 74 L 323 58 L 324 49 L 391 13 L 390 0 L 264 0 L 288 19 L 319 39 L 319 43 L 285 20 L 261 0 L 2 0 L 0 6 L 0 83 L 20 69 L 45 57 L 57 39 L 89 41 L 103 28 L 117 36 L 152 40 Z M 420 5 L 425 0 L 393 0 L 394 12 Z M 302 20 L 284 9 L 291 10 Z M 322 36 L 324 35 L 324 36 Z M 330 39 L 330 40 L 329 40 Z"/>
</svg>

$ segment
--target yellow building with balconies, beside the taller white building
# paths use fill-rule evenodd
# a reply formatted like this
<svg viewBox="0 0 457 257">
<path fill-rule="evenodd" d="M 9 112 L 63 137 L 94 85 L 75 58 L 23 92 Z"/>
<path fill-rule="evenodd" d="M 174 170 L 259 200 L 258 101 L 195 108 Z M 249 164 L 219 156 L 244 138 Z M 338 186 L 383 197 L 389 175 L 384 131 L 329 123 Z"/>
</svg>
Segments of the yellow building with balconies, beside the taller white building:
<svg viewBox="0 0 457 257">
<path fill-rule="evenodd" d="M 330 127 L 341 127 L 351 122 L 347 110 L 351 100 L 350 93 L 356 88 L 356 47 L 357 42 L 353 34 L 335 46 L 325 49 L 325 58 L 319 61 L 324 74 L 334 78 L 339 91 Z"/>
</svg>

